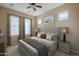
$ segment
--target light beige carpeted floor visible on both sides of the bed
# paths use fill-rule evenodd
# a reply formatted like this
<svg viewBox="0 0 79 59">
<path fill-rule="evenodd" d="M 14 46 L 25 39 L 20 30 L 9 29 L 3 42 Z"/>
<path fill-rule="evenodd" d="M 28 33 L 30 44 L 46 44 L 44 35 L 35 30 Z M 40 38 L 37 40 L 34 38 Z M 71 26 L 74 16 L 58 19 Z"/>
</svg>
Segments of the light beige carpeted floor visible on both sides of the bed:
<svg viewBox="0 0 79 59">
<path fill-rule="evenodd" d="M 10 46 L 7 48 L 7 54 L 6 56 L 21 56 L 21 54 L 18 51 L 18 46 Z M 66 54 L 62 51 L 57 50 L 56 53 L 53 56 L 75 56 L 75 54 Z"/>
</svg>

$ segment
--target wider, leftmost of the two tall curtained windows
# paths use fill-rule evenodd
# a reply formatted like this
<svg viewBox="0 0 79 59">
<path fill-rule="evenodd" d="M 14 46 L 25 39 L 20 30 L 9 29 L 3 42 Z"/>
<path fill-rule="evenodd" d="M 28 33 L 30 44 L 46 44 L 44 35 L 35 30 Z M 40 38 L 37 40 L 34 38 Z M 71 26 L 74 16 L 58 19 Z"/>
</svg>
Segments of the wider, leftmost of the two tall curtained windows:
<svg viewBox="0 0 79 59">
<path fill-rule="evenodd" d="M 11 15 L 10 18 L 10 35 L 19 35 L 19 17 Z"/>
</svg>

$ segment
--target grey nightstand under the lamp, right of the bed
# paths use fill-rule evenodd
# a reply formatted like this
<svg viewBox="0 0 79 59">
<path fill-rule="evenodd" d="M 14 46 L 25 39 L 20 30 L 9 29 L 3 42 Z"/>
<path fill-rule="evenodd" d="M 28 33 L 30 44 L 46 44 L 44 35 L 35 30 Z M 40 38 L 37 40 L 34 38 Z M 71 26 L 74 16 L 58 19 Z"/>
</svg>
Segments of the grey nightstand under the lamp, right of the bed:
<svg viewBox="0 0 79 59">
<path fill-rule="evenodd" d="M 66 41 L 66 42 L 59 41 L 58 48 L 59 48 L 59 50 L 61 50 L 63 52 L 70 53 L 71 43 L 69 41 Z"/>
</svg>

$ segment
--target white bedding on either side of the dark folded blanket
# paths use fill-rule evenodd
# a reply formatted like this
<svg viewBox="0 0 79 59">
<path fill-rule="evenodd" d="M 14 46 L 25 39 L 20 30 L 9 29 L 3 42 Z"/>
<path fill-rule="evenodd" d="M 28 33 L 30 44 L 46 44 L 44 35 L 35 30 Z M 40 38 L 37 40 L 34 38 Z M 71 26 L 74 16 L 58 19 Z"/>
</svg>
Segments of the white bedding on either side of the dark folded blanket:
<svg viewBox="0 0 79 59">
<path fill-rule="evenodd" d="M 49 40 L 38 38 L 38 37 L 30 37 L 30 38 L 45 44 L 47 46 L 47 48 L 49 49 L 48 55 L 52 55 L 57 49 L 57 41 L 49 41 Z M 23 40 L 19 40 L 19 43 L 21 45 L 23 45 L 24 48 L 26 49 L 25 50 L 26 52 L 23 52 L 24 51 L 24 50 L 22 50 L 23 47 L 20 48 L 20 50 L 22 50 L 23 54 L 24 53 L 28 54 L 27 52 L 29 52 L 32 55 L 38 55 L 38 51 L 35 48 L 33 48 L 32 46 L 30 46 L 28 43 L 24 42 Z M 19 44 L 19 46 L 21 46 L 20 44 Z"/>
</svg>

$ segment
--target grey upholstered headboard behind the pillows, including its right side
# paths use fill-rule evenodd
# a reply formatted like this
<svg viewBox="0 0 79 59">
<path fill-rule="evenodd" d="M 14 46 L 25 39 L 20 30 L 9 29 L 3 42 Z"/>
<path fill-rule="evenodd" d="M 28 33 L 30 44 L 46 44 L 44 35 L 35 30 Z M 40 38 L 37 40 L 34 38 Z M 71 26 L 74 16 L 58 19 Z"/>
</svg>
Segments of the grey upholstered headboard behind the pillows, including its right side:
<svg viewBox="0 0 79 59">
<path fill-rule="evenodd" d="M 50 33 L 50 34 L 57 34 L 56 36 L 53 37 L 53 40 L 59 40 L 60 39 L 60 28 L 59 27 L 53 27 L 53 28 L 40 28 L 40 31 L 39 32 L 45 32 L 46 34 L 47 33 Z M 55 38 L 55 39 L 54 39 Z M 58 38 L 58 39 L 56 39 Z"/>
</svg>

